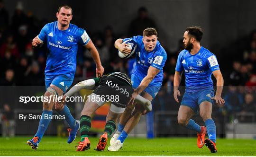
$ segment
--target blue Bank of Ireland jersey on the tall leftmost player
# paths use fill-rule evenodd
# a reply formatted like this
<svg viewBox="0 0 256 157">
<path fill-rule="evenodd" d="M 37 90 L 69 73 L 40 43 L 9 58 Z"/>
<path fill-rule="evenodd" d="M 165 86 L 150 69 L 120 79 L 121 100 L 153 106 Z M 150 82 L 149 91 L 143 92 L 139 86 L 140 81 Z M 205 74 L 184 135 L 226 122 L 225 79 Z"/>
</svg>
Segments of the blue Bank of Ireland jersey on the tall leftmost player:
<svg viewBox="0 0 256 157">
<path fill-rule="evenodd" d="M 74 77 L 78 44 L 86 45 L 90 37 L 86 31 L 70 24 L 67 30 L 59 30 L 57 21 L 46 24 L 38 38 L 47 44 L 46 77 L 64 74 Z"/>
</svg>

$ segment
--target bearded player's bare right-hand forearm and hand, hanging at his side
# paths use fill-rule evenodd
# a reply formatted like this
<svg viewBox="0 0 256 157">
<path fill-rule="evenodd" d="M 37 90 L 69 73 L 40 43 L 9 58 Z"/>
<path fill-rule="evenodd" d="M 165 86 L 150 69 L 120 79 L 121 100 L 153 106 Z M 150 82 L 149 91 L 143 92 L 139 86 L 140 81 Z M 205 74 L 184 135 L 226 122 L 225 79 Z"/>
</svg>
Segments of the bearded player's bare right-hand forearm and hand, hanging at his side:
<svg viewBox="0 0 256 157">
<path fill-rule="evenodd" d="M 216 82 L 217 90 L 216 90 L 216 95 L 211 99 L 216 100 L 217 104 L 223 105 L 225 103 L 225 100 L 221 98 L 221 93 L 224 85 L 224 79 L 222 77 L 220 70 L 215 70 L 212 72 L 212 74 L 217 80 Z"/>
</svg>

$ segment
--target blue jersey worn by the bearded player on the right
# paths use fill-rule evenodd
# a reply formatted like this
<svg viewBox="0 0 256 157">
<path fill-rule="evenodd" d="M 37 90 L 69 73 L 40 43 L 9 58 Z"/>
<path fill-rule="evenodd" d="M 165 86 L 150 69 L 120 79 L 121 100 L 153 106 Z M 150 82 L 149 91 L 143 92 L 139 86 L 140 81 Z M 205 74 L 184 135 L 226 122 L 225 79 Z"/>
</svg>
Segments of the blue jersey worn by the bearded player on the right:
<svg viewBox="0 0 256 157">
<path fill-rule="evenodd" d="M 187 50 L 179 53 L 176 71 L 185 72 L 186 90 L 198 87 L 212 87 L 211 74 L 219 70 L 216 56 L 201 46 L 198 53 L 192 55 Z"/>
</svg>

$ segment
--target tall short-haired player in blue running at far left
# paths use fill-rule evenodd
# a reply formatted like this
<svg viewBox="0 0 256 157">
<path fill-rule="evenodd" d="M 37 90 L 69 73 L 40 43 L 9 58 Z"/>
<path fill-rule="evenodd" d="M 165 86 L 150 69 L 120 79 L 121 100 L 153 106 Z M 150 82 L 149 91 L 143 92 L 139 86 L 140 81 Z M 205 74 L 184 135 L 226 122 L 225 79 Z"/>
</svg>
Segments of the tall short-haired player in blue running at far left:
<svg viewBox="0 0 256 157">
<path fill-rule="evenodd" d="M 104 72 L 99 53 L 86 31 L 70 23 L 72 20 L 71 7 L 67 5 L 59 7 L 56 17 L 57 21 L 46 24 L 40 34 L 32 41 L 33 47 L 47 44 L 46 93 L 44 97 L 48 97 L 49 100 L 43 102 L 42 118 L 40 119 L 36 135 L 33 139 L 27 141 L 27 144 L 33 149 L 38 148 L 38 144 L 51 122 L 51 118 L 46 117 L 52 117 L 54 105 L 56 111 L 65 117 L 65 121 L 70 127 L 67 142 L 71 143 L 75 139 L 79 129 L 79 122 L 76 122 L 66 105 L 57 105 L 50 98 L 52 96 L 62 96 L 71 86 L 76 69 L 78 44 L 90 50 L 91 56 L 96 63 L 96 76 L 102 76 Z"/>
</svg>

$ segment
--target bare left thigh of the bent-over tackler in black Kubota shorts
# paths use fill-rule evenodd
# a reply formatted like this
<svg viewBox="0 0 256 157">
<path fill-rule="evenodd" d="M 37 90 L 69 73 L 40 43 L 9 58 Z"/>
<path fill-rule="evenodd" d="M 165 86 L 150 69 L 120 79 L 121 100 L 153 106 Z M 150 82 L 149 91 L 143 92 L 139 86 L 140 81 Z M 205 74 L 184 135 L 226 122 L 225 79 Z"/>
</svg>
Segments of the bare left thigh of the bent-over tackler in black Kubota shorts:
<svg viewBox="0 0 256 157">
<path fill-rule="evenodd" d="M 91 93 L 91 95 L 86 100 L 83 106 L 81 115 L 91 116 L 91 114 L 95 113 L 95 111 L 98 108 L 100 108 L 102 105 L 106 103 L 105 101 L 101 101 L 101 99 L 97 99 L 97 97 L 100 98 L 99 95 L 96 95 L 95 93 Z"/>
</svg>

